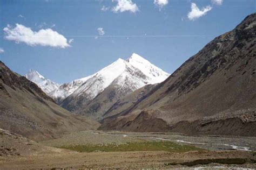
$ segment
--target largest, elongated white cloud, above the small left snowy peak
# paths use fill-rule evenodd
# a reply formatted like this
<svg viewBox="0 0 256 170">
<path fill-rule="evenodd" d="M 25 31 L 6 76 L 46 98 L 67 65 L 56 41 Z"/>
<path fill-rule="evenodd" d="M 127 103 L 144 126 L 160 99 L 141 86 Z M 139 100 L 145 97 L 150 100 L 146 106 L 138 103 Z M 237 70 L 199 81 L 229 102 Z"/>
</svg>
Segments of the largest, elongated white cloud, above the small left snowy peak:
<svg viewBox="0 0 256 170">
<path fill-rule="evenodd" d="M 70 45 L 68 40 L 52 29 L 42 29 L 39 31 L 32 31 L 29 27 L 21 24 L 16 24 L 16 27 L 7 25 L 4 29 L 5 39 L 15 41 L 16 43 L 24 42 L 30 46 L 51 46 L 58 48 L 66 48 Z"/>
</svg>

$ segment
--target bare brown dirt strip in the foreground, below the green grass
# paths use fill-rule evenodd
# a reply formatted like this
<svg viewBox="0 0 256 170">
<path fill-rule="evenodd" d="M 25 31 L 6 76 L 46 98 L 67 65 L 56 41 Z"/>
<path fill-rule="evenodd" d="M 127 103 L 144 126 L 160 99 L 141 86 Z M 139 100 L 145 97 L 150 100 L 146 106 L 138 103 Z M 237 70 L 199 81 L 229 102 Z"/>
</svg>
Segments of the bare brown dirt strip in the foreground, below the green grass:
<svg viewBox="0 0 256 170">
<path fill-rule="evenodd" d="M 0 159 L 1 169 L 34 168 L 178 168 L 183 162 L 199 159 L 255 159 L 245 151 L 194 151 L 186 153 L 154 152 L 92 152 L 77 153 L 62 151 L 52 154 L 38 154 L 26 157 L 7 157 Z M 177 164 L 177 165 L 175 165 Z M 210 166 L 219 164 L 210 164 Z M 197 167 L 199 165 L 194 165 Z M 202 165 L 200 165 L 202 166 Z M 205 165 L 204 165 L 205 166 Z M 207 165 L 209 166 L 209 165 Z M 224 165 L 227 166 L 227 165 Z M 233 167 L 255 168 L 255 163 L 232 165 Z"/>
</svg>

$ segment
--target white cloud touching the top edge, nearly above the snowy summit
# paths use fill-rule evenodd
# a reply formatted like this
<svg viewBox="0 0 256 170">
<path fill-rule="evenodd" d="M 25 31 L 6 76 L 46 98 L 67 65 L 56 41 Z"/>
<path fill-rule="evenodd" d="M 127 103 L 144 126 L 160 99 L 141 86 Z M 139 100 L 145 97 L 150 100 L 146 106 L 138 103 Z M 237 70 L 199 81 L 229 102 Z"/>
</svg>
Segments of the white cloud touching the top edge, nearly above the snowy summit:
<svg viewBox="0 0 256 170">
<path fill-rule="evenodd" d="M 117 2 L 117 5 L 112 8 L 112 11 L 114 13 L 125 12 L 125 11 L 130 11 L 132 13 L 135 13 L 139 11 L 138 6 L 135 3 L 133 3 L 131 0 L 112 0 L 112 2 Z"/>
</svg>

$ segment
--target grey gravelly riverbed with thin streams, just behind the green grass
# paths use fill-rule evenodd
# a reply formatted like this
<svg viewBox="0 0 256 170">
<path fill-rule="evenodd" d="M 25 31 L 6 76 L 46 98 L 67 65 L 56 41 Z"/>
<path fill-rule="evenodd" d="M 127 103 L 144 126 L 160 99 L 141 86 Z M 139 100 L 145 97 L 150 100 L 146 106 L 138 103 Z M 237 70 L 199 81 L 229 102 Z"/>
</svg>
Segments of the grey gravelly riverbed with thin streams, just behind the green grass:
<svg viewBox="0 0 256 170">
<path fill-rule="evenodd" d="M 65 134 L 62 138 L 45 140 L 47 146 L 61 147 L 84 144 L 124 144 L 134 141 L 171 141 L 181 145 L 191 145 L 206 150 L 256 151 L 256 137 L 232 136 L 186 136 L 178 133 L 143 133 L 121 131 L 80 131 Z"/>
</svg>

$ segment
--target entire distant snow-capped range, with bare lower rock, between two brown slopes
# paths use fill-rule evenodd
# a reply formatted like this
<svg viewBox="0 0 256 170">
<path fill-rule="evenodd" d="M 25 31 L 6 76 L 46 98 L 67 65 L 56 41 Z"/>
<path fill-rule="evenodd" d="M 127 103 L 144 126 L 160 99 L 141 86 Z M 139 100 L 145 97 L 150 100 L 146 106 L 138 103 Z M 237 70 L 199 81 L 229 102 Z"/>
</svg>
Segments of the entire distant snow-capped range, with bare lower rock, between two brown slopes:
<svg viewBox="0 0 256 170">
<path fill-rule="evenodd" d="M 35 70 L 30 70 L 25 76 L 63 108 L 101 119 L 119 98 L 146 84 L 160 83 L 169 75 L 133 53 L 127 60 L 119 58 L 93 75 L 62 85 L 45 79 Z"/>
</svg>

